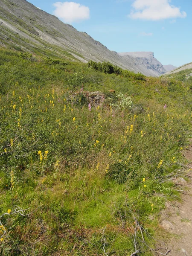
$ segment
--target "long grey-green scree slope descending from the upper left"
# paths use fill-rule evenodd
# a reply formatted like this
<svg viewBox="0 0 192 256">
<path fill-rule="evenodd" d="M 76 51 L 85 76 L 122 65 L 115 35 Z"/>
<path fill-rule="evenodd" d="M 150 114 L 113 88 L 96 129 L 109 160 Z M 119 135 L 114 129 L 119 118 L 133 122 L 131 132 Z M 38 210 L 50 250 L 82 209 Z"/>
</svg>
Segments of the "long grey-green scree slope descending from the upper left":
<svg viewBox="0 0 192 256">
<path fill-rule="evenodd" d="M 0 0 L 0 45 L 32 53 L 87 62 L 112 64 L 146 76 L 159 76 L 155 67 L 146 67 L 133 56 L 120 56 L 85 32 L 64 24 L 26 0 Z M 163 70 L 164 71 L 164 70 Z"/>
</svg>

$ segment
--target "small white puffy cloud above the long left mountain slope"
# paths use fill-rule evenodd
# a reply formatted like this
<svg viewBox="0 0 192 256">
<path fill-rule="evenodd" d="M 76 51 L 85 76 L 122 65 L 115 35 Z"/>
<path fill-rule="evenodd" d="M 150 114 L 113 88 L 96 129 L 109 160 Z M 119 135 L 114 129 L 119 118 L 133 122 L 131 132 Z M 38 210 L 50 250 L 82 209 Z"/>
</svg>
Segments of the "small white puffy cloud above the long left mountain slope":
<svg viewBox="0 0 192 256">
<path fill-rule="evenodd" d="M 80 3 L 74 2 L 56 2 L 54 15 L 67 23 L 79 22 L 90 18 L 90 9 Z"/>
</svg>

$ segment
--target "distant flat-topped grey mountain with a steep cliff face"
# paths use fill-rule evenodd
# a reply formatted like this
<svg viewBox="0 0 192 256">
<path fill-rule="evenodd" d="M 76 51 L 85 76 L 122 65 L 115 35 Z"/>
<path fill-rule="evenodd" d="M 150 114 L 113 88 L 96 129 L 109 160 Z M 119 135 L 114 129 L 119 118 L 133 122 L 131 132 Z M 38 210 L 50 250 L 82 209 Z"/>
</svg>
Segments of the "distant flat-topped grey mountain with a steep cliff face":
<svg viewBox="0 0 192 256">
<path fill-rule="evenodd" d="M 161 76 L 166 73 L 166 70 L 160 61 L 157 61 L 157 59 L 154 58 L 153 52 L 120 52 L 119 55 L 123 58 L 132 56 L 140 66 L 145 67 L 150 70 L 151 73 L 154 73 L 154 76 Z"/>
</svg>

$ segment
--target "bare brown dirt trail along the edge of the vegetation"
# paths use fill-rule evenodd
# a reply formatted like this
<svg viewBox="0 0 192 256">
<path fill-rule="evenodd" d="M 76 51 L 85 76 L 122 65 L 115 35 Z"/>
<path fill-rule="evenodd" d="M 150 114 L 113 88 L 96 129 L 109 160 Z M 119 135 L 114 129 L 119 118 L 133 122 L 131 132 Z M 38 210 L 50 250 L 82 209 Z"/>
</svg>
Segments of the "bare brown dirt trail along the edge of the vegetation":
<svg viewBox="0 0 192 256">
<path fill-rule="evenodd" d="M 192 169 L 192 140 L 190 147 L 184 152 L 189 161 L 189 168 Z M 164 242 L 164 247 L 171 250 L 168 256 L 192 256 L 192 170 L 189 169 L 186 182 L 183 178 L 178 178 L 176 183 L 181 185 L 182 201 L 176 205 L 168 203 L 163 211 L 160 224 L 171 233 L 171 239 Z M 167 252 L 168 252 L 167 250 Z M 163 252 L 166 255 L 165 251 Z M 159 254 L 160 255 L 160 254 Z"/>
</svg>

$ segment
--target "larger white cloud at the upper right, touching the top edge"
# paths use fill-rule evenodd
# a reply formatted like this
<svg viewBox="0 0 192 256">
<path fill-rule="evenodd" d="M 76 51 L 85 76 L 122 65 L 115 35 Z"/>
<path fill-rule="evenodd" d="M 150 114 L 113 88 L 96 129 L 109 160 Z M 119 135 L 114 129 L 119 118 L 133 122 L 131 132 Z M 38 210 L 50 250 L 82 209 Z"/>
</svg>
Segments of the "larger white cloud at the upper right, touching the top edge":
<svg viewBox="0 0 192 256">
<path fill-rule="evenodd" d="M 180 8 L 171 5 L 171 0 L 134 0 L 128 17 L 142 20 L 164 20 L 185 18 L 186 12 L 180 11 Z"/>
</svg>

